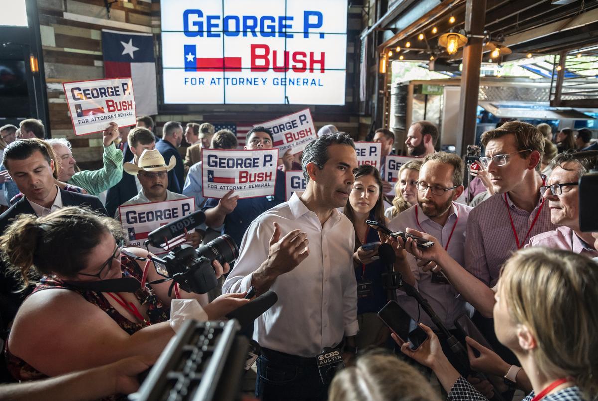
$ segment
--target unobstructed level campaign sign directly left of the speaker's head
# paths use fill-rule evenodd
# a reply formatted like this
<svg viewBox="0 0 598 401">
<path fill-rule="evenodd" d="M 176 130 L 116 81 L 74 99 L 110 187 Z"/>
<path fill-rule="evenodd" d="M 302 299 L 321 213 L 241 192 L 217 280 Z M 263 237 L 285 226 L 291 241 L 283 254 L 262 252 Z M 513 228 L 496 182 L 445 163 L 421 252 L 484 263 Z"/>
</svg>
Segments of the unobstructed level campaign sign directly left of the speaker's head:
<svg viewBox="0 0 598 401">
<path fill-rule="evenodd" d="M 203 196 L 222 198 L 231 189 L 239 198 L 274 194 L 277 149 L 202 149 Z"/>
</svg>

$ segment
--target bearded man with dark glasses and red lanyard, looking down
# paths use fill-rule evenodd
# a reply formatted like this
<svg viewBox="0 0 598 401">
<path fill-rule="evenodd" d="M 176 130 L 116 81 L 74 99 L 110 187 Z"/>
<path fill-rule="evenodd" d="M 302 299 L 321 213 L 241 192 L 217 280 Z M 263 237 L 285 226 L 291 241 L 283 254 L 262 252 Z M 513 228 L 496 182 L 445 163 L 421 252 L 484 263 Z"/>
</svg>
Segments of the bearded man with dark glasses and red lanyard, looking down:
<svg viewBox="0 0 598 401">
<path fill-rule="evenodd" d="M 392 232 L 415 229 L 434 236 L 454 260 L 465 259 L 465 228 L 472 208 L 455 202 L 463 193 L 463 159 L 454 153 L 438 152 L 423 159 L 417 181 L 417 204 L 399 213 L 388 224 Z M 423 272 L 411 254 L 404 263 L 395 263 L 403 280 L 418 288 L 432 309 L 449 329 L 455 329 L 454 320 L 468 312 L 466 301 L 449 284 L 438 269 Z M 399 291 L 398 302 L 413 317 L 419 315 L 422 323 L 437 330 L 434 322 L 419 313 L 417 302 Z M 469 307 L 471 308 L 471 306 Z M 450 354 L 450 352 L 449 352 Z"/>
</svg>

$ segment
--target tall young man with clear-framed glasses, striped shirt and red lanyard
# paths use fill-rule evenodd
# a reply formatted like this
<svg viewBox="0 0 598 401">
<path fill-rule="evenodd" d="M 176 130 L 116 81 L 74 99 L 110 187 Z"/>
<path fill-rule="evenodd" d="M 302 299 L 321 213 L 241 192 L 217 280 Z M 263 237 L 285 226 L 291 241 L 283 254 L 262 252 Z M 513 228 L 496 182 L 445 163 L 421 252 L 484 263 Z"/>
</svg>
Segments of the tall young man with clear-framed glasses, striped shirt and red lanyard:
<svg viewBox="0 0 598 401">
<path fill-rule="evenodd" d="M 495 195 L 472 210 L 467 224 L 465 268 L 490 287 L 501 266 L 529 239 L 556 229 L 540 193 L 542 177 L 536 170 L 544 154 L 544 136 L 532 124 L 508 121 L 484 132 L 488 171 Z"/>
</svg>

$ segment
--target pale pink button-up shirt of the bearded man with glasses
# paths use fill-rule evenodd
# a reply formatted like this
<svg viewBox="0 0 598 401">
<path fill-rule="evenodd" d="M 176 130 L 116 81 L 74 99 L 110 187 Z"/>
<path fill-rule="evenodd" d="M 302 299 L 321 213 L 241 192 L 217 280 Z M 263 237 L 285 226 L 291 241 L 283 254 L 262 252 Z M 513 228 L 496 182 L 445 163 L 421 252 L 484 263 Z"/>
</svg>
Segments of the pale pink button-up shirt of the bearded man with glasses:
<svg viewBox="0 0 598 401">
<path fill-rule="evenodd" d="M 443 248 L 446 247 L 450 238 L 447 253 L 463 266 L 463 261 L 465 260 L 465 229 L 471 209 L 471 207 L 462 203 L 453 202 L 449 218 L 447 218 L 444 226 L 441 226 L 423 214 L 422 209 L 418 209 L 416 218 L 416 206 L 412 206 L 393 218 L 388 224 L 388 228 L 392 232 L 405 231 L 406 228 L 415 229 L 420 232 L 423 231 L 436 238 L 439 245 Z M 452 237 L 451 232 L 453 234 Z M 407 263 L 409 263 L 409 268 L 415 277 L 415 287 L 422 294 L 422 297 L 428 300 L 430 306 L 447 329 L 454 329 L 454 320 L 461 314 L 472 312 L 471 305 L 463 297 L 459 296 L 459 293 L 457 293 L 452 285 L 432 282 L 432 273 L 423 272 L 421 268 L 418 268 L 417 262 L 411 254 L 407 254 Z M 428 317 L 426 312 L 421 308 L 418 309 L 417 302 L 413 297 L 408 296 L 402 291 L 397 291 L 397 295 L 399 305 L 401 305 L 411 318 L 417 319 L 419 315 L 419 321 L 433 329 L 436 328 L 436 325 Z"/>
</svg>

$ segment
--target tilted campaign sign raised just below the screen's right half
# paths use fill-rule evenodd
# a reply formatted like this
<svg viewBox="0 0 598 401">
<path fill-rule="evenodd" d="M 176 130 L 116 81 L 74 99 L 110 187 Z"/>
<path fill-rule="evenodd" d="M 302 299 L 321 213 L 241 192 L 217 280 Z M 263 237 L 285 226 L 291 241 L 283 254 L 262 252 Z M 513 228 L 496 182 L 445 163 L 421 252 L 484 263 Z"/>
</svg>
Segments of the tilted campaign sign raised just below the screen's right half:
<svg viewBox="0 0 598 401">
<path fill-rule="evenodd" d="M 288 149 L 291 149 L 292 154 L 299 153 L 309 142 L 316 139 L 317 131 L 309 108 L 278 119 L 254 124 L 254 127 L 258 126 L 271 130 L 274 136 L 274 147 L 280 151 L 280 156 Z"/>
</svg>

